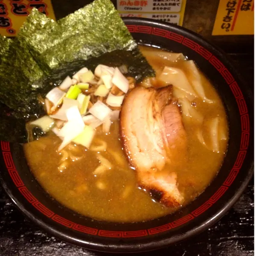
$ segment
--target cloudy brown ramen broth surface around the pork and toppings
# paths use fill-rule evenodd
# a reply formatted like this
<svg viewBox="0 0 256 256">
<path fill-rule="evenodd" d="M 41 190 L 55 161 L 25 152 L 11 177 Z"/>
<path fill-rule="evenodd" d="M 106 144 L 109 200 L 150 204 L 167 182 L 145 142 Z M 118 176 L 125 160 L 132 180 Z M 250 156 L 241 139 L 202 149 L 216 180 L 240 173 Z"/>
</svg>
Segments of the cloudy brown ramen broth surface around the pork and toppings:
<svg viewBox="0 0 256 256">
<path fill-rule="evenodd" d="M 172 62 L 163 56 L 163 51 L 149 47 L 140 47 L 149 63 L 155 70 L 162 70 L 165 65 L 179 67 L 185 73 L 183 60 Z M 148 54 L 148 52 L 150 54 Z M 206 96 L 215 101 L 205 104 L 196 99 L 197 111 L 201 113 L 205 122 L 211 117 L 219 116 L 221 125 L 228 131 L 227 118 L 222 102 L 209 81 L 201 75 Z M 184 193 L 185 202 L 194 200 L 209 185 L 220 169 L 227 150 L 227 140 L 220 142 L 220 151 L 212 152 L 202 145 L 196 137 L 197 125 L 184 122 L 188 136 L 188 161 L 177 159 L 178 188 Z M 204 133 L 205 141 L 209 135 Z M 98 141 L 97 141 L 98 140 Z M 61 204 L 92 218 L 107 221 L 145 221 L 174 212 L 177 208 L 167 208 L 157 203 L 145 191 L 137 186 L 136 175 L 128 166 L 119 139 L 118 122 L 111 125 L 109 134 L 98 132 L 93 145 L 99 140 L 107 142 L 106 151 L 92 151 L 76 145 L 64 148 L 67 160 L 63 162 L 65 153 L 57 152 L 61 140 L 53 133 L 46 137 L 24 145 L 27 162 L 30 169 L 44 189 Z M 93 171 L 99 166 L 97 155 L 101 154 L 112 163 L 112 168 L 102 174 L 94 175 Z M 63 166 L 63 163 L 66 166 Z M 171 166 L 166 164 L 165 169 Z"/>
</svg>

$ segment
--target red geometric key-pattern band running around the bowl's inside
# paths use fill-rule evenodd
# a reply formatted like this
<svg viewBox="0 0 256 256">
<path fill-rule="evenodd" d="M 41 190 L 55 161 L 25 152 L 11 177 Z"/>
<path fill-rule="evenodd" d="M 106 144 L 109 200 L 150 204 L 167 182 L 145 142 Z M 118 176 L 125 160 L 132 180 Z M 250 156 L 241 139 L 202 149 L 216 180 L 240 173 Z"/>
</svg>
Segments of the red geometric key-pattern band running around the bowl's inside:
<svg viewBox="0 0 256 256">
<path fill-rule="evenodd" d="M 230 87 L 230 90 L 232 91 L 234 97 L 236 98 L 237 105 L 239 107 L 239 113 L 241 116 L 241 145 L 240 145 L 240 151 L 237 155 L 235 165 L 233 166 L 233 169 L 230 171 L 227 179 L 224 181 L 223 185 L 218 189 L 217 192 L 215 192 L 212 197 L 206 201 L 203 205 L 198 207 L 198 209 L 195 209 L 191 214 L 186 215 L 176 221 L 173 221 L 171 223 L 150 228 L 147 230 L 134 230 L 134 231 L 111 231 L 111 230 L 98 230 L 91 227 L 85 227 L 80 224 L 73 223 L 57 214 L 49 210 L 47 207 L 45 207 L 43 204 L 41 204 L 24 186 L 23 181 L 20 179 L 20 176 L 15 168 L 15 165 L 12 160 L 12 154 L 10 152 L 10 145 L 9 142 L 1 141 L 1 149 L 3 151 L 3 159 L 6 163 L 6 168 L 8 169 L 9 175 L 12 178 L 13 182 L 15 183 L 15 186 L 19 189 L 20 193 L 26 198 L 26 200 L 31 203 L 39 212 L 41 212 L 43 215 L 51 218 L 53 221 L 58 222 L 61 225 L 64 225 L 65 227 L 69 227 L 73 230 L 90 234 L 90 235 L 98 235 L 98 236 L 105 236 L 105 237 L 112 237 L 112 238 L 131 238 L 131 237 L 140 237 L 140 236 L 150 236 L 157 233 L 166 232 L 168 230 L 171 230 L 172 228 L 179 227 L 183 224 L 186 224 L 188 221 L 191 221 L 192 219 L 196 218 L 197 216 L 203 214 L 207 209 L 209 209 L 213 204 L 215 204 L 216 201 L 221 198 L 224 193 L 228 190 L 229 186 L 233 183 L 233 181 L 236 179 L 236 176 L 238 175 L 241 166 L 243 164 L 248 144 L 249 144 L 249 137 L 250 137 L 250 130 L 249 130 L 249 115 L 247 114 L 247 105 L 244 100 L 244 96 L 241 93 L 241 90 L 234 81 L 233 76 L 230 74 L 230 72 L 227 70 L 227 68 L 224 66 L 224 64 L 218 60 L 214 55 L 212 55 L 211 52 L 209 52 L 204 47 L 201 47 L 196 42 L 192 41 L 189 38 L 183 37 L 182 35 L 178 35 L 174 32 L 170 32 L 165 29 L 159 29 L 154 28 L 151 26 L 139 26 L 139 25 L 128 25 L 128 30 L 133 33 L 144 33 L 144 34 L 151 34 L 156 35 L 164 38 L 168 38 L 169 40 L 176 41 L 180 44 L 185 45 L 186 47 L 189 47 L 190 49 L 193 49 L 195 52 L 197 52 L 199 55 L 204 57 L 209 61 L 210 64 L 212 64 L 213 67 L 215 67 L 216 70 L 223 76 L 225 81 L 227 82 L 227 85 Z"/>
</svg>

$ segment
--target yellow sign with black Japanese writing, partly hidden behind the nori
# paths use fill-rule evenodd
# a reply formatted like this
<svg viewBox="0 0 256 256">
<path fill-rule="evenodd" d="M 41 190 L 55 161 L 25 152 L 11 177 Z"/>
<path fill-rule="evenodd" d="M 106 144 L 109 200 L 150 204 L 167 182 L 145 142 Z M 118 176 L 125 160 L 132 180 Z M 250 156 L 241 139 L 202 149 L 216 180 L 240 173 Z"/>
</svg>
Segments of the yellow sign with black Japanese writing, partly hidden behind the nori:
<svg viewBox="0 0 256 256">
<path fill-rule="evenodd" d="M 16 36 L 32 8 L 55 20 L 51 0 L 0 0 L 0 35 Z"/>
</svg>

